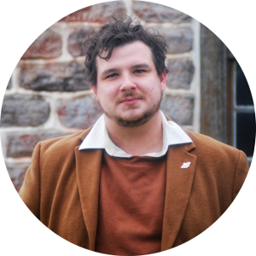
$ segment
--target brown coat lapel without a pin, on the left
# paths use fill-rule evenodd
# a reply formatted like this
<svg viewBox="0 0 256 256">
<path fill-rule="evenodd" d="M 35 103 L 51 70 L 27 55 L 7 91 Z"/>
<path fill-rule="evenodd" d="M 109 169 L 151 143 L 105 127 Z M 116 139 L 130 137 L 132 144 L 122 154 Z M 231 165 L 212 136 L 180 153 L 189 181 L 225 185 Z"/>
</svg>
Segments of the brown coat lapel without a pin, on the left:
<svg viewBox="0 0 256 256">
<path fill-rule="evenodd" d="M 94 255 L 98 216 L 99 184 L 102 167 L 102 149 L 79 151 L 75 148 L 76 171 L 84 222 L 90 240 L 90 252 Z"/>
</svg>

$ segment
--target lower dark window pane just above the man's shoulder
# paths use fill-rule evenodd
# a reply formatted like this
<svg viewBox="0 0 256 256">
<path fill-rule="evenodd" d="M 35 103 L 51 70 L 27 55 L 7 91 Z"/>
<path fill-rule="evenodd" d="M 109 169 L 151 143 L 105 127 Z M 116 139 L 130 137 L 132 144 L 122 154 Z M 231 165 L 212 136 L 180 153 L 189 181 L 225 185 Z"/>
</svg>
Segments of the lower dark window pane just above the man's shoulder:
<svg viewBox="0 0 256 256">
<path fill-rule="evenodd" d="M 247 156 L 254 155 L 255 114 L 236 113 L 236 148 L 241 149 Z"/>
</svg>

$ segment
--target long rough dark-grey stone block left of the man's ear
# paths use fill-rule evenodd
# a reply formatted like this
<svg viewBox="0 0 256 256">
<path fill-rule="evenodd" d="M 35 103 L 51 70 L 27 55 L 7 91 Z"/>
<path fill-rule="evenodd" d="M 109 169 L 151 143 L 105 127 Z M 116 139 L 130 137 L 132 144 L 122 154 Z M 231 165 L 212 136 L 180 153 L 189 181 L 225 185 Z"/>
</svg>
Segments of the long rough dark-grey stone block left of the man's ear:
<svg viewBox="0 0 256 256">
<path fill-rule="evenodd" d="M 29 90 L 90 90 L 84 64 L 79 62 L 27 65 L 21 68 L 20 86 Z"/>
</svg>

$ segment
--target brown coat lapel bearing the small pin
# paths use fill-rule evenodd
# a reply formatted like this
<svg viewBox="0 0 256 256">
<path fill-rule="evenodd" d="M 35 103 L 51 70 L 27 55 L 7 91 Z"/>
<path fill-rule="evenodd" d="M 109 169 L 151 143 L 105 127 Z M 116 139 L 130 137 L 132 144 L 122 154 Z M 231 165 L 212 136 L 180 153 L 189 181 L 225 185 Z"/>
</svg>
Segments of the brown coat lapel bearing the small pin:
<svg viewBox="0 0 256 256">
<path fill-rule="evenodd" d="M 170 146 L 166 160 L 166 201 L 163 219 L 161 256 L 171 252 L 183 222 L 194 180 L 196 156 L 189 151 L 194 143 Z M 181 169 L 183 163 L 191 162 Z"/>
</svg>

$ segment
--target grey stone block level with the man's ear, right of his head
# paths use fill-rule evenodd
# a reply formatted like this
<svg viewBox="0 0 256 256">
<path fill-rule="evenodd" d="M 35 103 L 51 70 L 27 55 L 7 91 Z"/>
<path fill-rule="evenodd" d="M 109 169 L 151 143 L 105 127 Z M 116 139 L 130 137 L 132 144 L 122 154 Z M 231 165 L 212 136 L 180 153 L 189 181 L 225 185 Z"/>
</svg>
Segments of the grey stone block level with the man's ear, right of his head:
<svg viewBox="0 0 256 256">
<path fill-rule="evenodd" d="M 193 61 L 181 59 L 167 62 L 167 86 L 172 89 L 189 90 L 193 79 L 195 67 Z"/>
</svg>

